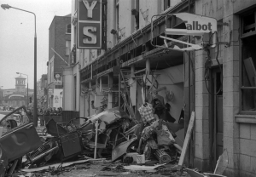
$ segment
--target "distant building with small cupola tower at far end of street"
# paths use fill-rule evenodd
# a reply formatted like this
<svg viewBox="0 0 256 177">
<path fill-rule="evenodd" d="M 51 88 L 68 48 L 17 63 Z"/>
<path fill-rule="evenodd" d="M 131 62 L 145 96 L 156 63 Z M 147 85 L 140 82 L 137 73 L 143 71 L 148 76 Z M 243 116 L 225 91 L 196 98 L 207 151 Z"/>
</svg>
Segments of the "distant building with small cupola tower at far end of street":
<svg viewBox="0 0 256 177">
<path fill-rule="evenodd" d="M 26 77 L 21 75 L 15 77 L 15 88 L 2 89 L 3 97 L 0 97 L 0 105 L 9 107 L 26 106 L 28 100 L 27 89 L 28 97 L 32 97 L 33 89 L 26 88 Z"/>
</svg>

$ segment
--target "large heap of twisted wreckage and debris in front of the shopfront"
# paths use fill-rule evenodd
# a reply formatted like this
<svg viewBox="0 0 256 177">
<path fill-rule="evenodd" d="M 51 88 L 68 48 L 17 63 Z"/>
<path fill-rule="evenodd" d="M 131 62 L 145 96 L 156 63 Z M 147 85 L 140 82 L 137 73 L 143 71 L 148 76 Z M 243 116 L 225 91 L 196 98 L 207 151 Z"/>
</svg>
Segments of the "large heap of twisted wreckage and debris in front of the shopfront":
<svg viewBox="0 0 256 177">
<path fill-rule="evenodd" d="M 1 176 L 50 176 L 96 166 L 101 171 L 90 176 L 106 176 L 106 172 L 111 172 L 110 176 L 175 173 L 174 166 L 182 151 L 175 143 L 175 123 L 144 120 L 135 123 L 125 111 L 115 107 L 88 117 L 81 126 L 76 123 L 78 118 L 69 123 L 50 119 L 44 137 L 38 136 L 32 123 L 25 123 L 0 138 Z M 14 137 L 21 138 L 13 140 Z M 9 150 L 7 142 L 11 141 L 13 149 Z"/>
</svg>

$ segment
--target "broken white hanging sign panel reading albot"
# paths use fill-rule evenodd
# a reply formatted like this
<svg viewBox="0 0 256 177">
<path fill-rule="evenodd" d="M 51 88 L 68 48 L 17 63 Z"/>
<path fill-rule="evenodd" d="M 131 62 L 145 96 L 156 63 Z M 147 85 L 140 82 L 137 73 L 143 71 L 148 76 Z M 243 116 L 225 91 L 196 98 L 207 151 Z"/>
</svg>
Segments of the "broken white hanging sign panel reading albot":
<svg viewBox="0 0 256 177">
<path fill-rule="evenodd" d="M 166 34 L 168 35 L 201 36 L 204 33 L 217 31 L 217 20 L 214 18 L 189 13 L 177 13 L 173 15 L 183 20 L 186 29 L 167 28 Z"/>
</svg>

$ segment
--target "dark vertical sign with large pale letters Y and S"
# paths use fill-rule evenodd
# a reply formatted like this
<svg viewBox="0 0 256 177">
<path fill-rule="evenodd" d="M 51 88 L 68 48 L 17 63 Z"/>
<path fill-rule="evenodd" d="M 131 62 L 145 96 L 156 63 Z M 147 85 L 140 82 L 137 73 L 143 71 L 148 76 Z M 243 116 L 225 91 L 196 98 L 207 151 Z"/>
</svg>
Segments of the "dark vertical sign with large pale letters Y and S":
<svg viewBox="0 0 256 177">
<path fill-rule="evenodd" d="M 78 7 L 78 49 L 106 49 L 106 3 L 102 0 L 79 0 Z"/>
</svg>

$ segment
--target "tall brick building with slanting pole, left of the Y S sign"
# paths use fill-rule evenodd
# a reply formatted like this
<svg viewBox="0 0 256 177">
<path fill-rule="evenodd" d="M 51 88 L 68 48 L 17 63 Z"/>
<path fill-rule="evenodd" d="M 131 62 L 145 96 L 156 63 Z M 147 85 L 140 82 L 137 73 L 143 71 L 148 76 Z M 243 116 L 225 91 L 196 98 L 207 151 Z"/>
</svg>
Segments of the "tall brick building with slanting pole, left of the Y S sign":
<svg viewBox="0 0 256 177">
<path fill-rule="evenodd" d="M 48 87 L 46 91 L 46 103 L 49 107 L 62 107 L 61 66 L 67 65 L 70 50 L 71 15 L 55 16 L 49 26 Z"/>
</svg>

